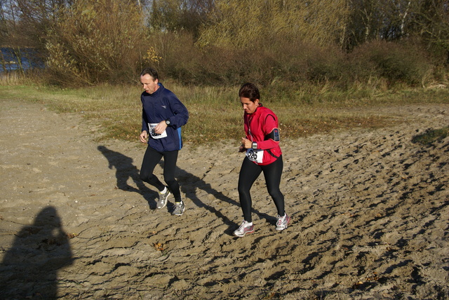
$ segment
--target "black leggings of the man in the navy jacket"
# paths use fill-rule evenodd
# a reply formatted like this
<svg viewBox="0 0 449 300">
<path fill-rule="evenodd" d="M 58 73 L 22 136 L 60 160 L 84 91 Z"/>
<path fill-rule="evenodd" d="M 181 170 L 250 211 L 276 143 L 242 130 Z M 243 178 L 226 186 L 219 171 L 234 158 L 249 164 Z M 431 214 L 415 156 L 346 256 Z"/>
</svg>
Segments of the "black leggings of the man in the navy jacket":
<svg viewBox="0 0 449 300">
<path fill-rule="evenodd" d="M 142 168 L 140 168 L 140 179 L 155 186 L 159 191 L 163 191 L 165 185 L 153 174 L 154 168 L 163 158 L 163 180 L 168 185 L 170 193 L 173 193 L 175 201 L 181 202 L 180 185 L 175 179 L 177 152 L 177 150 L 159 152 L 147 146 L 147 151 L 145 151 L 142 161 Z"/>
</svg>

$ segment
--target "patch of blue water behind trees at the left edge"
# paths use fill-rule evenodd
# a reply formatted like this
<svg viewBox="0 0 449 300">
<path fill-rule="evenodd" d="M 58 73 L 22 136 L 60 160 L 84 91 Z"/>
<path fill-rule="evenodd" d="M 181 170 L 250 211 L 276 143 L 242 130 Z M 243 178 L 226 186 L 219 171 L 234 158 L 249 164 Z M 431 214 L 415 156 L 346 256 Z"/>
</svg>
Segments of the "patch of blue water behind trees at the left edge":
<svg viewBox="0 0 449 300">
<path fill-rule="evenodd" d="M 29 69 L 42 69 L 45 64 L 39 59 L 38 53 L 33 48 L 20 48 L 20 57 L 15 55 L 13 48 L 0 48 L 4 61 L 0 57 L 0 72 L 15 71 L 20 69 L 20 63 L 24 71 Z"/>
</svg>

